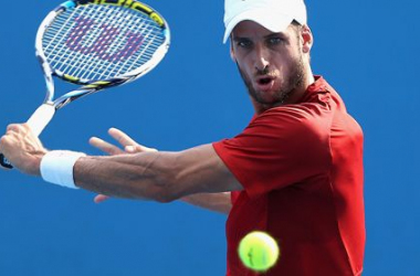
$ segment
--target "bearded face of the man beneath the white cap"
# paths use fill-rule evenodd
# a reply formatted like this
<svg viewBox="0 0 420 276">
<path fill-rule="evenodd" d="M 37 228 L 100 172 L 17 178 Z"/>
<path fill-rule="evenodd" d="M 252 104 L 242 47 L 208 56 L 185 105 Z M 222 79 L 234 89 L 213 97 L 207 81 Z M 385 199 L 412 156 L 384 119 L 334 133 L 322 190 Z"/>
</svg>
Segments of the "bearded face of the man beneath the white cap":
<svg viewBox="0 0 420 276">
<path fill-rule="evenodd" d="M 259 109 L 282 105 L 305 77 L 296 30 L 273 33 L 253 21 L 240 22 L 232 32 L 232 59 Z"/>
</svg>

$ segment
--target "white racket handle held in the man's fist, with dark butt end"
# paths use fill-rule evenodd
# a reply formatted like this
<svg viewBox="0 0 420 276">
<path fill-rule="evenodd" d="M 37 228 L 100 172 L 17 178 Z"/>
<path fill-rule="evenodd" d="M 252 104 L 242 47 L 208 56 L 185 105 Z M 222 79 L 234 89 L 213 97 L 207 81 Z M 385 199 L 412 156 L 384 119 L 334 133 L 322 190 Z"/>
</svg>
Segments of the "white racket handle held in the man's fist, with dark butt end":
<svg viewBox="0 0 420 276">
<path fill-rule="evenodd" d="M 38 137 L 44 130 L 45 126 L 50 123 L 55 114 L 55 107 L 50 104 L 43 104 L 32 114 L 27 124 L 31 128 L 32 132 Z M 13 169 L 13 166 L 9 160 L 0 153 L 0 166 L 6 169 Z"/>
</svg>

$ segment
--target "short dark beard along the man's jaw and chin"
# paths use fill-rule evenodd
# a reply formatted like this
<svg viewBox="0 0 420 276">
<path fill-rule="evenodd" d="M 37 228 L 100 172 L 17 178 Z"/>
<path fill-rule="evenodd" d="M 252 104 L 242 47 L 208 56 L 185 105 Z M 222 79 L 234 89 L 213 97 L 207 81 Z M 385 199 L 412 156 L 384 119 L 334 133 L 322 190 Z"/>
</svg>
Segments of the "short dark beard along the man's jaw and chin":
<svg viewBox="0 0 420 276">
<path fill-rule="evenodd" d="M 288 75 L 288 77 L 285 79 L 284 85 L 275 92 L 274 94 L 274 100 L 265 100 L 252 86 L 252 83 L 250 78 L 245 76 L 245 74 L 242 72 L 242 70 L 239 67 L 239 64 L 237 62 L 238 70 L 241 74 L 241 77 L 248 88 L 248 93 L 250 96 L 259 104 L 266 106 L 266 107 L 274 107 L 283 105 L 284 102 L 293 94 L 293 92 L 296 88 L 300 88 L 303 84 L 303 81 L 305 79 L 305 70 L 303 64 L 303 57 L 300 55 L 297 59 L 294 60 L 292 64 L 292 70 Z M 270 68 L 267 70 L 270 71 Z M 265 74 L 270 74 L 270 72 L 265 72 Z M 261 75 L 261 73 L 260 73 Z"/>
</svg>

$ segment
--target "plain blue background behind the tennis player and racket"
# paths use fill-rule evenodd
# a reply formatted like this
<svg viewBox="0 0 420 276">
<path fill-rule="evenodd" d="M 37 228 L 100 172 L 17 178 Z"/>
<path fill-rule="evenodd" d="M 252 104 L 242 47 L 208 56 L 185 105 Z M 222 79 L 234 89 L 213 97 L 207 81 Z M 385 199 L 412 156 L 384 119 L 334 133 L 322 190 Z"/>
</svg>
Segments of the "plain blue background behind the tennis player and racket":
<svg viewBox="0 0 420 276">
<path fill-rule="evenodd" d="M 34 38 L 59 3 L 2 3 L 0 129 L 27 120 L 44 97 Z M 144 145 L 181 150 L 245 127 L 252 107 L 221 43 L 223 1 L 147 3 L 172 31 L 164 62 L 136 83 L 60 110 L 41 136 L 48 148 L 98 155 L 88 138 L 114 126 Z M 314 73 L 340 92 L 365 130 L 364 275 L 420 275 L 420 4 L 323 0 L 307 9 Z M 224 274 L 224 215 L 180 202 L 95 204 L 93 197 L 0 171 L 0 275 Z"/>
</svg>

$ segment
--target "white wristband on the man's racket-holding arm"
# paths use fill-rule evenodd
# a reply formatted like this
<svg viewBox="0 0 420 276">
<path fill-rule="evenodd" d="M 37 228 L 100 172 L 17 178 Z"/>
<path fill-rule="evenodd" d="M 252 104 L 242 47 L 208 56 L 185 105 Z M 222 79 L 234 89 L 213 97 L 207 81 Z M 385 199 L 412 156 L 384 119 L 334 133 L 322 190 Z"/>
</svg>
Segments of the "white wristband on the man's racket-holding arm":
<svg viewBox="0 0 420 276">
<path fill-rule="evenodd" d="M 41 159 L 41 176 L 46 182 L 72 189 L 78 189 L 74 183 L 73 167 L 78 158 L 86 156 L 69 150 L 52 150 Z"/>
</svg>

